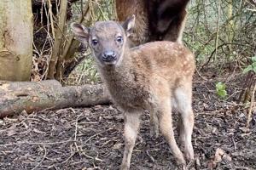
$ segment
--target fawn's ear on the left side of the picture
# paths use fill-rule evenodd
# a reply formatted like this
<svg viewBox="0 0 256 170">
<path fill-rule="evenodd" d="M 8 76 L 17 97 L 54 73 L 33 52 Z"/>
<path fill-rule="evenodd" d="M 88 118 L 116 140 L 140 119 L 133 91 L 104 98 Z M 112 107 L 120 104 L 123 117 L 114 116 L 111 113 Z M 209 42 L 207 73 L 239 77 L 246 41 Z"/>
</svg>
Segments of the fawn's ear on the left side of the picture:
<svg viewBox="0 0 256 170">
<path fill-rule="evenodd" d="M 87 43 L 89 38 L 89 28 L 86 28 L 85 26 L 78 24 L 78 23 L 72 23 L 71 24 L 71 31 L 73 31 L 75 37 L 79 42 Z"/>
</svg>

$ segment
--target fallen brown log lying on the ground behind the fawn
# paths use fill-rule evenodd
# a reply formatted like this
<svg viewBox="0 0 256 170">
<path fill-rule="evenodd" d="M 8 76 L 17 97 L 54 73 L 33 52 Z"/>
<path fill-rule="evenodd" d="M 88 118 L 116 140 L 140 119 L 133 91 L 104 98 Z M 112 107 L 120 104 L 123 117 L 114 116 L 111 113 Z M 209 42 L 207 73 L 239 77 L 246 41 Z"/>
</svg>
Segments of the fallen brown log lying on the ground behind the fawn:
<svg viewBox="0 0 256 170">
<path fill-rule="evenodd" d="M 22 111 L 86 107 L 110 104 L 107 88 L 102 84 L 62 87 L 55 80 L 42 82 L 0 81 L 0 118 Z"/>
</svg>

